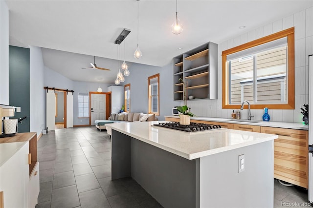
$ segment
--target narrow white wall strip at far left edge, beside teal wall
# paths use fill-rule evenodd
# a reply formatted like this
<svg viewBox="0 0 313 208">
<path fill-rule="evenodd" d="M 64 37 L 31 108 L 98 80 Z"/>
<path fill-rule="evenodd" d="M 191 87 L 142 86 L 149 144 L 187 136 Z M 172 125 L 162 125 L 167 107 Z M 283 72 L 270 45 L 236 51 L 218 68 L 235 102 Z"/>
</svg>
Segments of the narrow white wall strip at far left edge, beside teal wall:
<svg viewBox="0 0 313 208">
<path fill-rule="evenodd" d="M 0 104 L 9 104 L 9 9 L 0 0 Z"/>
</svg>

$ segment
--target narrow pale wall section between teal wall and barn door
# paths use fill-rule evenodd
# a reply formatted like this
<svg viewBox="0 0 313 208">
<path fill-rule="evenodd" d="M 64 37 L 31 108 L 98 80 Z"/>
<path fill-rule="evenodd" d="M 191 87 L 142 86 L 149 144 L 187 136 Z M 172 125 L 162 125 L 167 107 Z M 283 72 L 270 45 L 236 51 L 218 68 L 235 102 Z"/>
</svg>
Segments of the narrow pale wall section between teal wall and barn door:
<svg viewBox="0 0 313 208">
<path fill-rule="evenodd" d="M 40 47 L 30 46 L 30 131 L 39 135 L 45 128 L 44 61 Z"/>
</svg>

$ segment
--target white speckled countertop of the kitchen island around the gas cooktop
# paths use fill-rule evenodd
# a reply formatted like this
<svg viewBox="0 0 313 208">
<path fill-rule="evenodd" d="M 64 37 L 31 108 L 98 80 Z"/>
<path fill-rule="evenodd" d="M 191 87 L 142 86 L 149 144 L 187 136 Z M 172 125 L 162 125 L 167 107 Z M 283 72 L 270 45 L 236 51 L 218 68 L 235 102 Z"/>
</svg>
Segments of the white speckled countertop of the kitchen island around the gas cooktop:
<svg viewBox="0 0 313 208">
<path fill-rule="evenodd" d="M 115 123 L 106 126 L 188 160 L 278 138 L 277 135 L 233 129 L 187 133 L 153 126 L 162 122 Z"/>
</svg>

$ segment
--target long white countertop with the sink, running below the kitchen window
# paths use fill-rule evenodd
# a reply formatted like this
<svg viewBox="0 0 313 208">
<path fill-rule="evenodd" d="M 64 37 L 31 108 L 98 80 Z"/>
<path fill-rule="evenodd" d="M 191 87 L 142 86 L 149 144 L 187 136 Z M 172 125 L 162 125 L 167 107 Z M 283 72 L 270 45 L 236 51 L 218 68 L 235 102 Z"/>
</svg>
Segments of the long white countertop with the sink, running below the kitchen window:
<svg viewBox="0 0 313 208">
<path fill-rule="evenodd" d="M 165 117 L 179 118 L 179 116 L 165 116 Z M 268 126 L 268 127 L 309 130 L 309 125 L 304 125 L 302 123 L 273 122 L 273 121 L 269 121 L 269 122 L 260 121 L 258 123 L 252 123 L 252 122 L 232 121 L 232 119 L 229 119 L 229 118 L 225 119 L 225 118 L 213 118 L 213 117 L 191 117 L 190 119 L 198 120 L 198 121 L 224 122 L 224 123 L 230 123 L 230 124 L 259 125 L 259 126 Z"/>
</svg>

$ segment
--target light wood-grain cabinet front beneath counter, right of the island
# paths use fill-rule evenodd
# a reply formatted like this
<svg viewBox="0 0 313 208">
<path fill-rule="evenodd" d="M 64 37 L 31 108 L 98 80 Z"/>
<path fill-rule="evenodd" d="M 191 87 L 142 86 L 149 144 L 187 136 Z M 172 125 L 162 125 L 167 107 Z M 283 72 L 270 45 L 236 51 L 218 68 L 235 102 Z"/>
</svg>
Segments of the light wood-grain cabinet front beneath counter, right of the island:
<svg viewBox="0 0 313 208">
<path fill-rule="evenodd" d="M 274 140 L 274 177 L 308 188 L 308 131 L 262 126 L 261 132 L 278 135 Z"/>
</svg>

